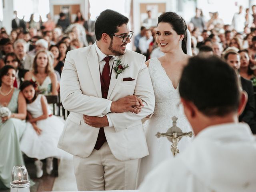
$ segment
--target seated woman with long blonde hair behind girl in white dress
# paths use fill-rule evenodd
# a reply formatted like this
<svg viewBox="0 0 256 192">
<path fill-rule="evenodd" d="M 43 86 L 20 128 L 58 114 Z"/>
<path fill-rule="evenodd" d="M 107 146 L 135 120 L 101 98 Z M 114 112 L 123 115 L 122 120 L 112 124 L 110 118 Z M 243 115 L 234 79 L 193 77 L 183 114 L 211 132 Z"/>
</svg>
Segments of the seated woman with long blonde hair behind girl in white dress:
<svg viewBox="0 0 256 192">
<path fill-rule="evenodd" d="M 32 70 L 25 74 L 25 80 L 32 80 L 38 84 L 38 93 L 44 95 L 58 95 L 57 77 L 50 63 L 47 51 L 36 53 Z"/>
</svg>

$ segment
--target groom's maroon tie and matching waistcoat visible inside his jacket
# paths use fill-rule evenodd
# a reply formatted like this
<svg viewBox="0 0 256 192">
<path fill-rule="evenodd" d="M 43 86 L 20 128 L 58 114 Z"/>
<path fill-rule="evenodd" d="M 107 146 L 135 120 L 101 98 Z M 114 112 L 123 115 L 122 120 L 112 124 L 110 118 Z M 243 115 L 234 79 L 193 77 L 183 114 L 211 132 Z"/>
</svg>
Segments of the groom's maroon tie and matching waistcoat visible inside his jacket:
<svg viewBox="0 0 256 192">
<path fill-rule="evenodd" d="M 112 56 L 105 57 L 104 60 L 106 61 L 106 64 L 104 65 L 102 75 L 100 76 L 100 83 L 101 83 L 101 95 L 102 98 L 106 99 L 108 97 L 108 88 L 110 84 L 110 66 L 109 61 L 112 58 Z M 104 128 L 101 127 L 98 138 L 96 141 L 96 144 L 94 146 L 94 149 L 99 150 L 101 146 L 106 141 L 106 136 L 104 132 Z"/>
</svg>

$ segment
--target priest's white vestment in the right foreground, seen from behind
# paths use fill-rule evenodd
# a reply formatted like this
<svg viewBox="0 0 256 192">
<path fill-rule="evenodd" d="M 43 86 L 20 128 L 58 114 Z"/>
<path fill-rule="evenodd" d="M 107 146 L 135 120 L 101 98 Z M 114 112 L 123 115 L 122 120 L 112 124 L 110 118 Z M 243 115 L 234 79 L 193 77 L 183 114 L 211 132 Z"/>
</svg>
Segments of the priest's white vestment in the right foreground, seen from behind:
<svg viewBox="0 0 256 192">
<path fill-rule="evenodd" d="M 150 172 L 140 192 L 256 192 L 256 137 L 244 123 L 209 126 Z"/>
</svg>

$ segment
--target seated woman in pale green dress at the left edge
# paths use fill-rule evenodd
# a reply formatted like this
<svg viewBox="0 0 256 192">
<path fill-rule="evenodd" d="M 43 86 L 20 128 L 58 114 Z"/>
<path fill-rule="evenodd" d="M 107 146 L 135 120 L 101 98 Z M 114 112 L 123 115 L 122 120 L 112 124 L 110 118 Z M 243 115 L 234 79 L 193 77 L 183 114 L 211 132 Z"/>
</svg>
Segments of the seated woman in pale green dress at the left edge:
<svg viewBox="0 0 256 192">
<path fill-rule="evenodd" d="M 15 69 L 6 65 L 0 71 L 0 104 L 11 111 L 0 118 L 0 189 L 10 188 L 15 165 L 24 165 L 20 138 L 26 128 L 26 100 L 20 90 L 13 88 Z"/>
</svg>

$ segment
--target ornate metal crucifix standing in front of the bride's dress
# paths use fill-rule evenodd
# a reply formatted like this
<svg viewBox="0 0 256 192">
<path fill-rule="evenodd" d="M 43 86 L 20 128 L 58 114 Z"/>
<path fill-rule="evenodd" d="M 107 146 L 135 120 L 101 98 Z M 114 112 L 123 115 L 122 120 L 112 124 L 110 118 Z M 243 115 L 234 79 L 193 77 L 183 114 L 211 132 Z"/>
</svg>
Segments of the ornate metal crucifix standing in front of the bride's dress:
<svg viewBox="0 0 256 192">
<path fill-rule="evenodd" d="M 171 151 L 172 151 L 173 156 L 176 156 L 176 154 L 179 153 L 178 142 L 180 141 L 180 139 L 184 136 L 192 137 L 192 135 L 193 135 L 192 131 L 183 133 L 182 130 L 176 126 L 177 120 L 178 120 L 178 118 L 176 116 L 173 116 L 172 117 L 172 127 L 169 128 L 166 133 L 157 132 L 157 134 L 156 134 L 157 138 L 160 138 L 161 136 L 167 137 L 167 139 L 170 142 L 172 142 Z"/>
</svg>

